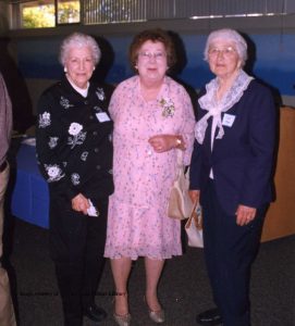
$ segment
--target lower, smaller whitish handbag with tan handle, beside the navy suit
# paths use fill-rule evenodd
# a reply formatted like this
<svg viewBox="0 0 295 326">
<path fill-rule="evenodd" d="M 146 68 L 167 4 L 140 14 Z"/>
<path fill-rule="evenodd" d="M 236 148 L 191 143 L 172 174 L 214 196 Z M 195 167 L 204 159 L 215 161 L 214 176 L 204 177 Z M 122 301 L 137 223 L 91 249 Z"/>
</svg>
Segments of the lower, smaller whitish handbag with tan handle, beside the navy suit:
<svg viewBox="0 0 295 326">
<path fill-rule="evenodd" d="M 189 247 L 204 248 L 201 206 L 198 201 L 194 204 L 192 214 L 185 224 L 185 231 Z"/>
</svg>

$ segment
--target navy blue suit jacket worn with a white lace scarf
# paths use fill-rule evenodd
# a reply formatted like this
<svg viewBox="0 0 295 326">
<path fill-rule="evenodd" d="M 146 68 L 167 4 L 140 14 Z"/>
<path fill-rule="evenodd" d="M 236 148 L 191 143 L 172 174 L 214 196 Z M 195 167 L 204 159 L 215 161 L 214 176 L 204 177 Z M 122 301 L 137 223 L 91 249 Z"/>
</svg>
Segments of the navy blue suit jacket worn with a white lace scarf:
<svg viewBox="0 0 295 326">
<path fill-rule="evenodd" d="M 201 90 L 200 96 L 205 93 Z M 198 108 L 198 120 L 207 111 Z M 229 111 L 223 112 L 233 121 L 223 124 L 224 135 L 214 139 L 211 150 L 211 124 L 204 143 L 195 141 L 190 164 L 190 189 L 206 189 L 210 170 L 220 204 L 229 214 L 235 214 L 237 205 L 259 208 L 272 200 L 272 172 L 275 147 L 275 108 L 267 87 L 251 80 L 242 98 Z"/>
</svg>

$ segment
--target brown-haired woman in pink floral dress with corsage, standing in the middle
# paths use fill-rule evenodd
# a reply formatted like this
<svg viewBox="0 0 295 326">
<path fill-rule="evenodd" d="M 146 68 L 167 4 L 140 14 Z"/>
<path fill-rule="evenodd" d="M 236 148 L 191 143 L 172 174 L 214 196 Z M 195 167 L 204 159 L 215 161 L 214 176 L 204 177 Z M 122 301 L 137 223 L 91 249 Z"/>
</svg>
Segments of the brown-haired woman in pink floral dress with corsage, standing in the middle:
<svg viewBox="0 0 295 326">
<path fill-rule="evenodd" d="M 164 260 L 182 254 L 181 224 L 167 215 L 177 151 L 189 164 L 195 117 L 185 89 L 167 76 L 175 63 L 169 35 L 145 30 L 130 50 L 137 75 L 121 83 L 111 99 L 114 121 L 113 175 L 105 255 L 115 284 L 114 319 L 130 325 L 127 279 L 132 260 L 145 256 L 145 298 L 150 318 L 164 322 L 157 286 Z"/>
</svg>

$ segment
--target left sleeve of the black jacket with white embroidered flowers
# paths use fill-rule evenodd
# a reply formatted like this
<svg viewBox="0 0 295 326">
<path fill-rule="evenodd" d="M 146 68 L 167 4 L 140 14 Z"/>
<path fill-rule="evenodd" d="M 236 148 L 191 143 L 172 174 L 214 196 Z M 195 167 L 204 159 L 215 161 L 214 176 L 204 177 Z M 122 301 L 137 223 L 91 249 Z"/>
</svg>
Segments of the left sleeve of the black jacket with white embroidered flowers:
<svg viewBox="0 0 295 326">
<path fill-rule="evenodd" d="M 78 195 L 65 172 L 65 163 L 59 159 L 54 141 L 61 138 L 61 124 L 54 111 L 54 100 L 50 91 L 46 91 L 38 102 L 38 121 L 36 128 L 37 161 L 44 178 L 56 192 L 63 193 L 69 200 Z"/>
</svg>

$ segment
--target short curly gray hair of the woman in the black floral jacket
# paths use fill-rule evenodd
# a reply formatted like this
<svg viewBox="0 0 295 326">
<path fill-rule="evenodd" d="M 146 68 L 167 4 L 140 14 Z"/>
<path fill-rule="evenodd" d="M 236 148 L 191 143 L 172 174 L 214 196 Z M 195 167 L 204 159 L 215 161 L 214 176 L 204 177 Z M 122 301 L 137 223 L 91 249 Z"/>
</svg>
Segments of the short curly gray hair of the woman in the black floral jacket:
<svg viewBox="0 0 295 326">
<path fill-rule="evenodd" d="M 61 43 L 60 48 L 60 63 L 64 66 L 70 48 L 89 47 L 91 50 L 95 65 L 99 63 L 101 51 L 97 41 L 89 35 L 82 33 L 73 33 L 69 35 Z"/>
</svg>

